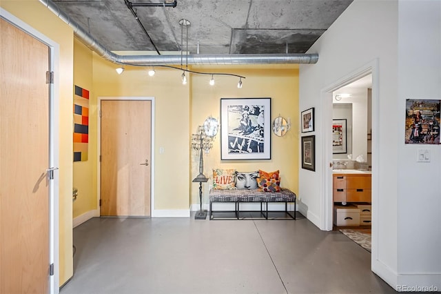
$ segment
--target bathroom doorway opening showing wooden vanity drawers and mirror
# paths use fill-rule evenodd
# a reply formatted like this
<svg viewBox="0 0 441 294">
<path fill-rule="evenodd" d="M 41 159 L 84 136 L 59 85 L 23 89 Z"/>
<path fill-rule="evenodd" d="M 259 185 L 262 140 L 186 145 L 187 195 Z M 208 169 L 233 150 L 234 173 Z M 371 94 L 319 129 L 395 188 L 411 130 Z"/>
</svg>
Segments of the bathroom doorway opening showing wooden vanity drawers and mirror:
<svg viewBox="0 0 441 294">
<path fill-rule="evenodd" d="M 370 246 L 372 75 L 332 92 L 333 231 L 364 236 Z"/>
</svg>

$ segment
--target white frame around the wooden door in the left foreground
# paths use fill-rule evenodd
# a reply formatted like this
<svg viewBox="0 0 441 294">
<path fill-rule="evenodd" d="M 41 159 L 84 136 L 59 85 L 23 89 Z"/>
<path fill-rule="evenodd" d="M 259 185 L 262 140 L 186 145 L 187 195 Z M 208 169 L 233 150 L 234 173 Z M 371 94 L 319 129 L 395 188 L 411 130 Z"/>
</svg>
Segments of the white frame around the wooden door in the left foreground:
<svg viewBox="0 0 441 294">
<path fill-rule="evenodd" d="M 27 33 L 49 48 L 49 70 L 55 72 L 53 84 L 49 86 L 49 162 L 48 168 L 59 167 L 59 44 L 43 35 L 28 23 L 0 8 L 0 17 Z M 54 170 L 54 179 L 49 185 L 49 264 L 54 264 L 54 274 L 49 277 L 49 293 L 59 293 L 59 170 Z"/>
</svg>

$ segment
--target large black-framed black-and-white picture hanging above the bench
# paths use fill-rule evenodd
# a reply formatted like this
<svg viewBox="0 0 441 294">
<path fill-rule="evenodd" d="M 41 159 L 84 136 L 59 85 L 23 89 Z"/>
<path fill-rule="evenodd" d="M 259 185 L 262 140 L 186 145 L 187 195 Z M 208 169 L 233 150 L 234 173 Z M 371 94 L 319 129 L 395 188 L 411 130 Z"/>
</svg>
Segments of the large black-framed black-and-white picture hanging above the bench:
<svg viewBox="0 0 441 294">
<path fill-rule="evenodd" d="M 220 99 L 220 159 L 271 159 L 271 98 Z"/>
</svg>

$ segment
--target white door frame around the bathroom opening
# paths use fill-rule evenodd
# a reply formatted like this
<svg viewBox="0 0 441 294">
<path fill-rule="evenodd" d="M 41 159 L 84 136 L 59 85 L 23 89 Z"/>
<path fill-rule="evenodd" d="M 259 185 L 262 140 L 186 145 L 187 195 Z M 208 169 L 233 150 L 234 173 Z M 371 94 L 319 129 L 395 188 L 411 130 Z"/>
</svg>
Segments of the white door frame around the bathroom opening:
<svg viewBox="0 0 441 294">
<path fill-rule="evenodd" d="M 332 197 L 332 167 L 330 166 L 330 163 L 332 162 L 332 148 L 331 148 L 331 141 L 332 141 L 332 134 L 331 130 L 332 128 L 332 99 L 333 95 L 332 93 L 335 90 L 338 90 L 339 88 L 342 88 L 343 86 L 347 86 L 348 84 L 351 84 L 353 81 L 356 81 L 362 77 L 365 77 L 367 75 L 372 75 L 372 114 L 371 114 L 371 121 L 372 121 L 372 145 L 371 145 L 371 152 L 372 152 L 372 166 L 373 166 L 373 173 L 372 173 L 372 253 L 371 253 L 371 260 L 378 259 L 378 173 L 376 173 L 376 170 L 378 170 L 379 166 L 379 154 L 378 154 L 378 133 L 380 131 L 378 126 L 378 114 L 379 114 L 379 97 L 378 97 L 378 75 L 379 75 L 379 65 L 378 65 L 378 59 L 374 59 L 370 61 L 369 63 L 365 64 L 365 66 L 362 66 L 361 68 L 358 68 L 358 70 L 355 70 L 345 77 L 342 77 L 338 80 L 336 80 L 334 83 L 330 84 L 329 86 L 325 87 L 321 91 L 321 99 L 320 99 L 320 106 L 322 108 L 322 133 L 323 133 L 323 139 L 324 142 L 329 142 L 329 144 L 322 144 L 320 152 L 322 153 L 322 158 L 324 158 L 324 162 L 322 164 L 322 197 L 320 202 L 320 210 L 321 210 L 321 216 L 322 216 L 322 230 L 323 231 L 332 231 L 333 227 L 333 197 Z"/>
</svg>

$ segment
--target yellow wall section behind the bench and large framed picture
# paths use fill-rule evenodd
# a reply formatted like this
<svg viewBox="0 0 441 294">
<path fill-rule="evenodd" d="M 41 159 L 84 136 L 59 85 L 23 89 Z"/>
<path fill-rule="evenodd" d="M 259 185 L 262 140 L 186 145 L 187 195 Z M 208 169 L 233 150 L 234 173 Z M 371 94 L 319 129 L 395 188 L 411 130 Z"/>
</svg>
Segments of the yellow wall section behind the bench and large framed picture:
<svg viewBox="0 0 441 294">
<path fill-rule="evenodd" d="M 195 70 L 199 70 L 195 68 Z M 271 121 L 281 115 L 291 119 L 291 130 L 277 137 L 271 133 L 270 160 L 220 160 L 220 132 L 215 137 L 212 150 L 204 155 L 204 175 L 209 177 L 212 168 L 236 168 L 240 171 L 280 170 L 281 184 L 298 192 L 298 66 L 297 65 L 262 65 L 262 66 L 217 66 L 200 68 L 205 72 L 229 72 L 246 77 L 243 87 L 237 88 L 238 78 L 214 76 L 214 86 L 209 86 L 211 76 L 192 75 L 192 133 L 210 115 L 220 119 L 220 98 L 271 98 Z M 222 127 L 222 126 L 221 126 Z M 192 178 L 198 175 L 199 156 L 192 153 Z M 207 202 L 209 183 L 203 186 L 204 199 Z M 192 204 L 199 203 L 198 185 L 192 185 Z"/>
</svg>

